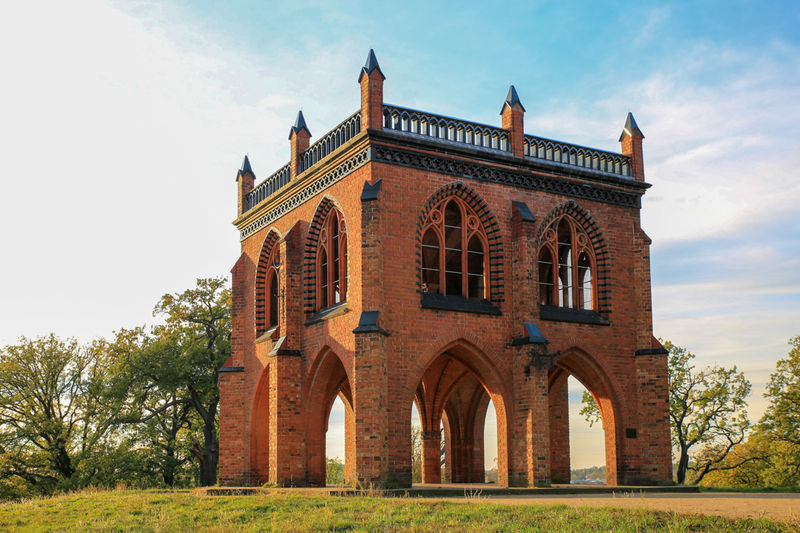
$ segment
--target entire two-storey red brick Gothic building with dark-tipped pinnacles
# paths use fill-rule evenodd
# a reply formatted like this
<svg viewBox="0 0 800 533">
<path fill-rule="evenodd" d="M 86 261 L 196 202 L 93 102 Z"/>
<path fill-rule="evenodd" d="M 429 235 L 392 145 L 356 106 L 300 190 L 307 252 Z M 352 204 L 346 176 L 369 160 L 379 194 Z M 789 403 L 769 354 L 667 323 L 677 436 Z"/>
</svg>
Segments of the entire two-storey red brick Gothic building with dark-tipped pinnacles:
<svg viewBox="0 0 800 533">
<path fill-rule="evenodd" d="M 666 352 L 653 339 L 642 139 L 621 153 L 383 101 L 372 51 L 359 109 L 291 161 L 237 175 L 242 254 L 220 369 L 220 479 L 322 485 L 333 401 L 350 483 L 484 479 L 497 413 L 500 485 L 570 476 L 566 379 L 594 395 L 610 484 L 671 482 Z"/>
</svg>

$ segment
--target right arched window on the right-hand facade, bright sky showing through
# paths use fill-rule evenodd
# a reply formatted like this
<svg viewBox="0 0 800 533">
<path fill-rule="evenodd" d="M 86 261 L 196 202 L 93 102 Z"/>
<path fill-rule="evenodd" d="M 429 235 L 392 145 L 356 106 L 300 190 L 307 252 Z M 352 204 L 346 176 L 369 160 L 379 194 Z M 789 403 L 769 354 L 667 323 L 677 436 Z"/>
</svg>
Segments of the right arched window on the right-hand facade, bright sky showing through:
<svg viewBox="0 0 800 533">
<path fill-rule="evenodd" d="M 586 230 L 564 215 L 544 231 L 539 249 L 539 303 L 575 309 L 596 309 L 595 257 Z"/>
</svg>

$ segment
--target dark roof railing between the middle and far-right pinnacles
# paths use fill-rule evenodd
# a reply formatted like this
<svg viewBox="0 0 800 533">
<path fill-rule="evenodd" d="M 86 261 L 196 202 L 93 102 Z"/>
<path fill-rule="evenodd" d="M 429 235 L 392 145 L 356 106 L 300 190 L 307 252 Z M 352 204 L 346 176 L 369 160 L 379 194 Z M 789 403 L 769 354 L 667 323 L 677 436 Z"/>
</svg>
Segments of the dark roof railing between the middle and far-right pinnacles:
<svg viewBox="0 0 800 533">
<path fill-rule="evenodd" d="M 627 155 L 554 141 L 534 135 L 525 136 L 523 154 L 529 159 L 553 161 L 619 176 L 631 175 L 631 159 Z"/>
</svg>

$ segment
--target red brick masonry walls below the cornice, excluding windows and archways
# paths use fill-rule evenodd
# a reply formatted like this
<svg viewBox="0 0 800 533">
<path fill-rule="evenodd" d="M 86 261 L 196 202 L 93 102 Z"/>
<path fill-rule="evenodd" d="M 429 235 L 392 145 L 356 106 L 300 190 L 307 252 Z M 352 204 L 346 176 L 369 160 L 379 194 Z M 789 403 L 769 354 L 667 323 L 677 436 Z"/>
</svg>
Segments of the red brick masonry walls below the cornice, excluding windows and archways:
<svg viewBox="0 0 800 533">
<path fill-rule="evenodd" d="M 500 316 L 420 306 L 416 281 L 420 209 L 437 190 L 458 180 L 485 202 L 498 221 L 502 247 L 497 258 L 504 295 L 498 302 Z M 380 181 L 381 189 L 377 200 L 363 203 L 360 196 L 367 181 Z M 323 197 L 342 212 L 347 224 L 346 312 L 306 325 L 308 316 L 297 312 L 303 306 L 297 291 L 287 288 L 291 297 L 285 301 L 287 319 L 281 328 L 292 334 L 281 348 L 298 355 L 270 355 L 275 339 L 256 342 L 252 313 L 255 265 L 262 244 L 269 231 L 284 236 L 298 221 L 307 228 Z M 513 201 L 524 202 L 536 221 L 521 222 Z M 549 213 L 568 201 L 588 213 L 609 250 L 609 276 L 601 288 L 613 297 L 605 315 L 610 325 L 547 321 L 539 316 L 534 268 L 537 231 Z M 307 229 L 298 230 L 297 235 L 300 240 L 307 238 Z M 549 436 L 557 423 L 551 428 L 547 370 L 526 376 L 527 348 L 509 346 L 523 335 L 524 323 L 534 322 L 550 340 L 548 350 L 561 353 L 556 368 L 578 377 L 600 401 L 609 481 L 668 482 L 666 363 L 657 357 L 634 358 L 635 350 L 650 347 L 652 335 L 649 242 L 642 235 L 637 209 L 385 163 L 370 162 L 359 168 L 242 243 L 242 258 L 233 276 L 232 361 L 243 366 L 244 372 L 220 380 L 221 479 L 225 483 L 260 479 L 261 467 L 253 462 L 263 460 L 264 452 L 249 448 L 259 446 L 250 438 L 259 431 L 252 427 L 251 411 L 265 372 L 275 387 L 267 408 L 269 480 L 305 479 L 308 457 L 303 443 L 312 436 L 324 439 L 318 434 L 324 429 L 316 422 L 312 425 L 307 416 L 308 399 L 319 381 L 316 361 L 321 354 L 333 353 L 345 370 L 354 402 L 352 422 L 347 424 L 347 442 L 352 443 L 347 451 L 348 475 L 361 482 L 407 485 L 414 395 L 426 369 L 447 352 L 478 377 L 495 406 L 500 483 L 549 483 L 551 461 L 554 465 L 556 461 L 549 448 L 559 444 Z M 298 275 L 302 274 L 291 274 L 293 287 Z M 362 310 L 379 311 L 379 325 L 390 335 L 354 334 Z M 286 363 L 287 368 L 282 358 L 292 361 Z M 240 438 L 239 433 L 246 437 Z"/>
</svg>

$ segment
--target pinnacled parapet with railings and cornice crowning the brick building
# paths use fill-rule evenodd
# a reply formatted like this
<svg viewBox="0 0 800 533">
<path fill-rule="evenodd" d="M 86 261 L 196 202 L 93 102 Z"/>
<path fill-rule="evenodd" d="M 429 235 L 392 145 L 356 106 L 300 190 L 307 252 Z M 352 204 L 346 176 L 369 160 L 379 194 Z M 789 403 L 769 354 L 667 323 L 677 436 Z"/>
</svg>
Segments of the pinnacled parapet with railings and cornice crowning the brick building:
<svg viewBox="0 0 800 533">
<path fill-rule="evenodd" d="M 311 132 L 299 112 L 289 131 L 290 162 L 257 186 L 245 157 L 237 175 L 239 216 L 235 221 L 243 239 L 285 214 L 291 206 L 284 198 L 296 199 L 312 184 L 316 194 L 369 161 L 427 165 L 428 170 L 459 177 L 635 208 L 649 187 L 642 162 L 644 135 L 630 113 L 619 139 L 621 153 L 608 152 L 525 134 L 525 108 L 514 86 L 503 102 L 502 125 L 497 127 L 386 104 L 384 80 L 370 50 L 358 80 L 361 109 L 314 144 L 309 143 Z M 398 146 L 436 155 L 412 161 Z M 446 156 L 458 161 L 468 158 L 474 164 L 454 165 Z M 283 208 L 278 209 L 277 203 Z M 291 204 L 297 205 L 296 201 Z"/>
</svg>

